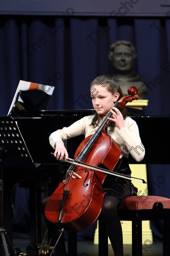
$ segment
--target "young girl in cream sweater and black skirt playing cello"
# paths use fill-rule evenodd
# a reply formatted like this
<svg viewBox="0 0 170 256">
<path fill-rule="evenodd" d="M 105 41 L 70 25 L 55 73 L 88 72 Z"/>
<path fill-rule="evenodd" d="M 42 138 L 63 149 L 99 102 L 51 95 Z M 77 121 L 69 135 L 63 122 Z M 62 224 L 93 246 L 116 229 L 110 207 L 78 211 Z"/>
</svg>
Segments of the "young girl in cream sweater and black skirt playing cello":
<svg viewBox="0 0 170 256">
<path fill-rule="evenodd" d="M 103 86 L 100 81 L 108 81 L 108 83 Z M 65 160 L 67 160 L 68 153 L 64 147 L 63 141 L 80 134 L 84 134 L 85 137 L 94 134 L 107 113 L 111 111 L 113 117 L 108 119 L 112 129 L 108 129 L 107 133 L 121 146 L 121 156 L 114 168 L 114 172 L 131 175 L 127 161 L 128 153 L 130 152 L 134 159 L 140 162 L 144 157 L 144 148 L 142 148 L 140 154 L 132 150 L 132 148 L 141 146 L 138 126 L 134 120 L 127 117 L 125 109 L 119 111 L 117 108 L 113 107 L 114 103 L 122 97 L 121 88 L 115 79 L 109 80 L 106 76 L 100 76 L 91 83 L 90 93 L 92 104 L 96 111 L 95 114 L 85 116 L 71 126 L 57 130 L 50 135 L 49 142 L 55 149 L 54 156 L 57 160 L 62 160 L 65 155 Z M 115 112 L 111 110 L 112 108 Z M 106 223 L 107 234 L 110 238 L 114 255 L 123 256 L 122 228 L 120 221 L 118 221 L 117 205 L 125 197 L 136 195 L 137 189 L 130 180 L 113 175 L 106 176 L 102 189 L 106 192 L 101 212 Z M 44 205 L 48 199 L 45 200 Z M 49 228 L 54 230 L 52 222 L 51 224 L 48 223 L 47 227 L 48 225 L 51 225 Z M 61 248 L 61 243 L 62 241 L 58 245 L 58 249 L 56 249 L 56 255 L 66 255 L 65 248 Z"/>
</svg>

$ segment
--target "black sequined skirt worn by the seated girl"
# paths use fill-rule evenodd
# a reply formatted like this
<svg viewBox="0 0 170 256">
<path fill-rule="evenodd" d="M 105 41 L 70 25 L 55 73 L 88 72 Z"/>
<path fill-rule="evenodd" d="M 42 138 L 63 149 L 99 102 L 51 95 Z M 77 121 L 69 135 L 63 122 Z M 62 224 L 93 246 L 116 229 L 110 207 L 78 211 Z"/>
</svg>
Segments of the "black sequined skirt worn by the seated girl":
<svg viewBox="0 0 170 256">
<path fill-rule="evenodd" d="M 117 162 L 114 168 L 114 172 L 119 172 L 125 175 L 131 175 L 131 169 L 128 164 L 128 159 L 123 157 Z M 104 197 L 114 196 L 117 197 L 120 202 L 128 196 L 137 195 L 138 189 L 134 187 L 131 180 L 127 180 L 121 177 L 107 174 L 102 189 L 106 192 Z"/>
</svg>

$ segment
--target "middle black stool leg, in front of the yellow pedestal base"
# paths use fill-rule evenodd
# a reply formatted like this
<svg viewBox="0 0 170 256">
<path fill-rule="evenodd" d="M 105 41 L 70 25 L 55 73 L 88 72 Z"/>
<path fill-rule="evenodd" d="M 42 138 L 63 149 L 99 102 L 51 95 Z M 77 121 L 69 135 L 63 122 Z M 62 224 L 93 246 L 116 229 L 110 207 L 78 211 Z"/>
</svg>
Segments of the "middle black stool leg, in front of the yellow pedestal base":
<svg viewBox="0 0 170 256">
<path fill-rule="evenodd" d="M 132 220 L 132 256 L 142 256 L 142 221 Z"/>
</svg>

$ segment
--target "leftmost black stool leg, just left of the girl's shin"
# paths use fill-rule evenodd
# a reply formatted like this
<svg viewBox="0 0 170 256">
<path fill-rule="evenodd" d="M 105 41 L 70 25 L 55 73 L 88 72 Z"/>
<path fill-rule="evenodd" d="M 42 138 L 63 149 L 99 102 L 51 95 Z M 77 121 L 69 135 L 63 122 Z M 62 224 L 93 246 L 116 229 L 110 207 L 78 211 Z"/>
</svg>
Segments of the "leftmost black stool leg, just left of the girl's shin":
<svg viewBox="0 0 170 256">
<path fill-rule="evenodd" d="M 106 225 L 103 215 L 100 214 L 98 218 L 99 226 L 99 256 L 108 256 L 108 236 L 106 231 Z"/>
</svg>

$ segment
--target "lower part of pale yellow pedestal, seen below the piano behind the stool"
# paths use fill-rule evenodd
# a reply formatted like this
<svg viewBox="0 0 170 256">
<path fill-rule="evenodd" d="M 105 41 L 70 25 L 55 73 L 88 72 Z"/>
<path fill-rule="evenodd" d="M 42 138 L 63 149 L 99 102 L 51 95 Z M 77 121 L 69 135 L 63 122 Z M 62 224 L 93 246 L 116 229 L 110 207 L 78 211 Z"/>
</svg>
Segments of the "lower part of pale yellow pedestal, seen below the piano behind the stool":
<svg viewBox="0 0 170 256">
<path fill-rule="evenodd" d="M 147 182 L 147 172 L 146 172 L 146 165 L 144 164 L 133 164 L 129 165 L 132 171 L 131 176 L 138 177 L 144 179 Z M 138 188 L 138 196 L 146 195 L 145 189 L 148 187 L 147 184 L 139 183 L 137 181 L 132 181 L 135 187 Z M 132 243 L 132 225 L 131 221 L 121 221 L 122 224 L 122 232 L 123 232 L 123 243 L 124 244 L 131 244 Z M 98 244 L 98 223 L 97 228 L 94 235 L 94 244 Z M 152 239 L 152 231 L 150 229 L 150 222 L 149 221 L 142 221 L 142 244 L 146 240 L 150 240 L 153 242 Z M 110 240 L 108 240 L 110 244 Z"/>
</svg>

